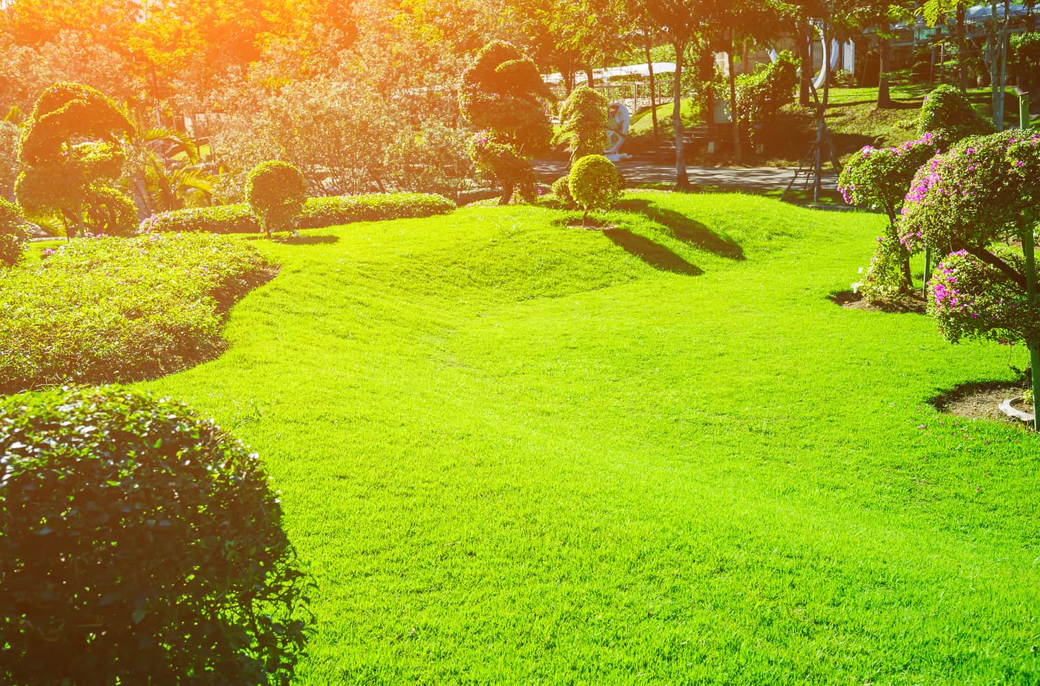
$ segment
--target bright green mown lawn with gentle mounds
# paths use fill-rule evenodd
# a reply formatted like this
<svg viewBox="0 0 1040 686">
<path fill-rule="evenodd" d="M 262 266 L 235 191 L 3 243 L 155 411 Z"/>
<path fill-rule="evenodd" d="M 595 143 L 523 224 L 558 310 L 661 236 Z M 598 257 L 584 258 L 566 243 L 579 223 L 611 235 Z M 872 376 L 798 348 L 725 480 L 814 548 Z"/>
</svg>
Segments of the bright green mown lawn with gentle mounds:
<svg viewBox="0 0 1040 686">
<path fill-rule="evenodd" d="M 624 209 L 258 241 L 229 350 L 141 385 L 282 490 L 298 683 L 1036 683 L 1040 442 L 926 403 L 1024 355 L 831 304 L 878 215 Z"/>
</svg>

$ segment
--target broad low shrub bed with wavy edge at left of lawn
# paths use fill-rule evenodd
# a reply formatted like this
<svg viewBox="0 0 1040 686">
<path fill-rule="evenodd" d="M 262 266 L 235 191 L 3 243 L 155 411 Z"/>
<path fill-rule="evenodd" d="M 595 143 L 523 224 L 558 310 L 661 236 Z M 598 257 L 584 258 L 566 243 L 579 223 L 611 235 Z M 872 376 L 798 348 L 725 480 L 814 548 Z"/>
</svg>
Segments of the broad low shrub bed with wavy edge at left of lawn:
<svg viewBox="0 0 1040 686">
<path fill-rule="evenodd" d="M 154 377 L 210 358 L 223 312 L 271 273 L 252 245 L 205 234 L 45 250 L 0 273 L 0 393 Z"/>
</svg>

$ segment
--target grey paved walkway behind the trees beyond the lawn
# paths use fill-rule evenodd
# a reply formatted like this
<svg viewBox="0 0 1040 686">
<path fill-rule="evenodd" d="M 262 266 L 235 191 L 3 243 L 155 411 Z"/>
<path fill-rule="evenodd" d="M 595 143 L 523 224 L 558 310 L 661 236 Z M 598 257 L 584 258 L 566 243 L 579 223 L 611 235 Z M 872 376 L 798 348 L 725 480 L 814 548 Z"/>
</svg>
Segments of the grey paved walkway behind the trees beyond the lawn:
<svg viewBox="0 0 1040 686">
<path fill-rule="evenodd" d="M 674 164 L 655 164 L 650 160 L 627 160 L 618 162 L 618 168 L 629 184 L 641 183 L 675 183 Z M 540 180 L 553 182 L 564 176 L 567 162 L 556 160 L 535 160 L 535 173 Z M 733 166 L 696 166 L 686 165 L 690 183 L 695 186 L 730 186 L 737 188 L 754 188 L 772 190 L 786 188 L 795 176 L 795 169 L 775 167 L 733 167 Z M 837 188 L 837 176 L 824 174 L 823 187 Z"/>
</svg>

